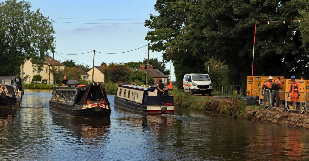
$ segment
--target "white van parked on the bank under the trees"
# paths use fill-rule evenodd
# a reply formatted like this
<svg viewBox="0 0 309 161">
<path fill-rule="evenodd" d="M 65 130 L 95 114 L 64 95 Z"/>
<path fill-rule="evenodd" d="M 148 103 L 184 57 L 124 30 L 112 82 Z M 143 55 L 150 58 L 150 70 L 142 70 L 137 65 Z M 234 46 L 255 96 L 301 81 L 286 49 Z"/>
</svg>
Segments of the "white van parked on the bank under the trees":
<svg viewBox="0 0 309 161">
<path fill-rule="evenodd" d="M 208 93 L 211 96 L 212 84 L 208 74 L 185 74 L 182 90 L 184 93 L 198 93 L 205 95 Z"/>
</svg>

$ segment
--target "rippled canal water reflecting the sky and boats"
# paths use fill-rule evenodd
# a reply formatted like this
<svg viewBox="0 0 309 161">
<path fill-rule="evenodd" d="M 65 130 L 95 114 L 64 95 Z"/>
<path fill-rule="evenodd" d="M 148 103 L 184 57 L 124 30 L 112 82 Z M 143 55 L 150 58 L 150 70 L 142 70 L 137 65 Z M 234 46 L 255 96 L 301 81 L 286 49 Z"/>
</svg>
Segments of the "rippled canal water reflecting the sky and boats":
<svg viewBox="0 0 309 161">
<path fill-rule="evenodd" d="M 308 160 L 309 130 L 176 107 L 78 120 L 49 109 L 51 90 L 26 90 L 0 108 L 0 160 Z"/>
</svg>

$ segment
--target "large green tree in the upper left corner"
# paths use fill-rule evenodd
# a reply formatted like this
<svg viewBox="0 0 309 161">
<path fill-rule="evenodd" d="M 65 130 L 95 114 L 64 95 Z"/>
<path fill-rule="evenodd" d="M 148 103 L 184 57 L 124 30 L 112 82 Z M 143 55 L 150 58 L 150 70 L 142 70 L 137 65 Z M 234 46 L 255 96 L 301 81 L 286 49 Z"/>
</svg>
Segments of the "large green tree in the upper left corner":
<svg viewBox="0 0 309 161">
<path fill-rule="evenodd" d="M 27 1 L 8 0 L 0 3 L 0 75 L 20 73 L 26 59 L 40 68 L 48 50 L 54 49 L 52 23 L 39 10 L 30 11 Z"/>
</svg>

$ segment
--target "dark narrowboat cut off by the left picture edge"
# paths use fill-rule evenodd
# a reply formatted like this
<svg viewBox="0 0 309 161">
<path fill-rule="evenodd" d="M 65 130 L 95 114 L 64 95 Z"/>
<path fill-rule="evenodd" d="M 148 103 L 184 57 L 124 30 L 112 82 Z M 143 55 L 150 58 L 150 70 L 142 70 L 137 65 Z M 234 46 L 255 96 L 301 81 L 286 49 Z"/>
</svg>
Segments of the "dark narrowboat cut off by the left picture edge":
<svg viewBox="0 0 309 161">
<path fill-rule="evenodd" d="M 0 106 L 19 106 L 23 86 L 18 77 L 0 77 Z"/>
</svg>

